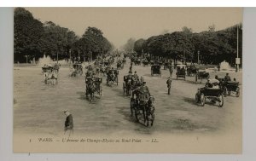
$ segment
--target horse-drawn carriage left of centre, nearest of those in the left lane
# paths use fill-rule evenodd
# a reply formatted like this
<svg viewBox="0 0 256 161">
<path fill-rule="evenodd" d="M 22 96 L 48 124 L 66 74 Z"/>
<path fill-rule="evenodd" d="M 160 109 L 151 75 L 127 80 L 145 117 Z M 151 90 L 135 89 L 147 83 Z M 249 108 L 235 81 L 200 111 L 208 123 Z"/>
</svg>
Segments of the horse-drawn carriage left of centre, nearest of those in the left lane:
<svg viewBox="0 0 256 161">
<path fill-rule="evenodd" d="M 100 97 L 102 96 L 102 78 L 86 77 L 85 84 L 85 95 L 86 98 L 90 95 L 90 101 L 94 99 L 95 93 Z"/>
</svg>

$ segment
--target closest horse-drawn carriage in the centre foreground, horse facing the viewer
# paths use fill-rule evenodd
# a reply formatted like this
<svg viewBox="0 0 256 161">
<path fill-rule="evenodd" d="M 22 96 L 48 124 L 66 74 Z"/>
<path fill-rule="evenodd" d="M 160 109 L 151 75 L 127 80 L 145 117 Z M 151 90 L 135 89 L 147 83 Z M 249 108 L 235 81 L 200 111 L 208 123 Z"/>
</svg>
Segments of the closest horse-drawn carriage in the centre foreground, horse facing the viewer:
<svg viewBox="0 0 256 161">
<path fill-rule="evenodd" d="M 131 96 L 131 116 L 134 116 L 139 122 L 143 118 L 143 122 L 146 126 L 151 122 L 151 126 L 154 124 L 154 96 L 146 96 L 146 94 L 140 93 L 139 90 L 132 92 Z"/>
</svg>

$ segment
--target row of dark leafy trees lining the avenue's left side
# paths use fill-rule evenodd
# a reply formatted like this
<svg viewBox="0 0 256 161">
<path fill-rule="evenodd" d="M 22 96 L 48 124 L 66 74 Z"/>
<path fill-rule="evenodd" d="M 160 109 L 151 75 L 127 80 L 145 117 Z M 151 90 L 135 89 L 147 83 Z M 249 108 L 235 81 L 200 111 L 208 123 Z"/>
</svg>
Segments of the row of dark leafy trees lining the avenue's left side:
<svg viewBox="0 0 256 161">
<path fill-rule="evenodd" d="M 70 56 L 93 59 L 112 49 L 113 45 L 96 27 L 88 27 L 84 35 L 78 37 L 54 22 L 34 19 L 24 8 L 15 9 L 15 62 L 26 62 L 26 58 L 38 60 L 44 54 L 54 60 Z"/>
</svg>

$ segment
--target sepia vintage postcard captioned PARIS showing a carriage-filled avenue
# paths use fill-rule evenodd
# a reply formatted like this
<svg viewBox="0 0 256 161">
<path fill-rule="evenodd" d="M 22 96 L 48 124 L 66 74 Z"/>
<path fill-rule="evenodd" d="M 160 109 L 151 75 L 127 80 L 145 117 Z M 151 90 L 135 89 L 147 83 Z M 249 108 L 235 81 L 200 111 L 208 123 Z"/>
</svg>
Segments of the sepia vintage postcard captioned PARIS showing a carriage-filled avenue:
<svg viewBox="0 0 256 161">
<path fill-rule="evenodd" d="M 241 153 L 242 8 L 15 8 L 14 152 Z"/>
</svg>

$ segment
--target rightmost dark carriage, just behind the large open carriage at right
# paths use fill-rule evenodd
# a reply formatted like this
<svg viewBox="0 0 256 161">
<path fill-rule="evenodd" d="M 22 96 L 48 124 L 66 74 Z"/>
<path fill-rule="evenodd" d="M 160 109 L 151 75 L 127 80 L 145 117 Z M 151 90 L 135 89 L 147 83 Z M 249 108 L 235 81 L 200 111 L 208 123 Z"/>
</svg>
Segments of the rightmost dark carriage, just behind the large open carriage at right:
<svg viewBox="0 0 256 161">
<path fill-rule="evenodd" d="M 221 87 L 224 90 L 224 96 L 231 95 L 232 93 L 239 97 L 240 88 L 239 82 L 236 81 L 221 81 Z"/>
</svg>

